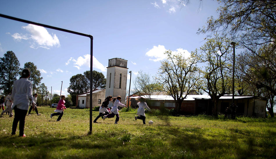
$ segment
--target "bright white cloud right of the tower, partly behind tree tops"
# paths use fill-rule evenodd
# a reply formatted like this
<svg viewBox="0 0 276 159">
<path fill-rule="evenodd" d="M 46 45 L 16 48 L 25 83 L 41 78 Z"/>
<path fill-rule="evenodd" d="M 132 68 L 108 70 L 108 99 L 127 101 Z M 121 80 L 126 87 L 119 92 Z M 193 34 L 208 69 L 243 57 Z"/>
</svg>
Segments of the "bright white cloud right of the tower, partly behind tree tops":
<svg viewBox="0 0 276 159">
<path fill-rule="evenodd" d="M 151 57 L 149 60 L 153 60 L 154 62 L 156 61 L 161 61 L 166 58 L 166 55 L 164 52 L 167 51 L 167 49 L 163 45 L 158 45 L 158 46 L 153 46 L 152 49 L 150 49 L 147 53 L 146 56 Z M 184 50 L 182 48 L 176 49 L 176 51 L 171 51 L 172 54 L 182 54 L 184 58 L 187 58 L 191 55 L 189 51 Z"/>
</svg>

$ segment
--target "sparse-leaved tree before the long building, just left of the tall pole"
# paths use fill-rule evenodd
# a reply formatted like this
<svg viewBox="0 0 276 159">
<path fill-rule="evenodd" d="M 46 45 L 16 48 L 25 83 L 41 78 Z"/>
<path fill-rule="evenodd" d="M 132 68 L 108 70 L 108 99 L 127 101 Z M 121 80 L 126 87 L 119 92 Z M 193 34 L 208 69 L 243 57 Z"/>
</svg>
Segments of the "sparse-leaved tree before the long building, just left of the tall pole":
<svg viewBox="0 0 276 159">
<path fill-rule="evenodd" d="M 204 81 L 202 89 L 211 97 L 212 114 L 218 115 L 218 99 L 226 94 L 226 87 L 230 85 L 232 47 L 229 39 L 219 37 L 208 39 L 207 42 L 194 52 L 199 62 L 205 64 L 202 70 Z"/>
</svg>

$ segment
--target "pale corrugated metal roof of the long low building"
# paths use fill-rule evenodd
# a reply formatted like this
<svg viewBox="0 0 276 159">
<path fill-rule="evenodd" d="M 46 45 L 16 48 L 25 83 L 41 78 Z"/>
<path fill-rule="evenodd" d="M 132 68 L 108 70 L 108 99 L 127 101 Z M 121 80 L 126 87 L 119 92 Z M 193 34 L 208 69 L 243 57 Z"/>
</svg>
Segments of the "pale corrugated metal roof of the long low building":
<svg viewBox="0 0 276 159">
<path fill-rule="evenodd" d="M 148 95 L 141 96 L 143 98 L 148 99 Z M 234 96 L 234 99 L 243 99 L 243 98 L 252 98 L 254 96 Z M 138 97 L 130 97 L 130 98 L 138 98 Z M 152 100 L 174 100 L 173 97 L 169 95 L 152 95 L 150 96 Z M 195 99 L 211 99 L 211 97 L 207 94 L 202 95 L 187 95 L 184 101 L 194 101 Z M 219 99 L 232 99 L 232 96 L 225 95 L 220 97 Z"/>
</svg>

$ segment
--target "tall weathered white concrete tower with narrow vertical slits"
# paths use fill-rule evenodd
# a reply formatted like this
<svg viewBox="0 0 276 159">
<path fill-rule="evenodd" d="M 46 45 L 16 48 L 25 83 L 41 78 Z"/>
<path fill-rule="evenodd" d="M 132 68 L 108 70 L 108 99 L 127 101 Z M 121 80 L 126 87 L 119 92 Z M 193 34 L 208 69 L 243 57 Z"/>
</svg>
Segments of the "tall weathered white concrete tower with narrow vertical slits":
<svg viewBox="0 0 276 159">
<path fill-rule="evenodd" d="M 128 60 L 112 58 L 108 60 L 105 97 L 121 96 L 121 103 L 126 104 L 126 80 Z"/>
</svg>

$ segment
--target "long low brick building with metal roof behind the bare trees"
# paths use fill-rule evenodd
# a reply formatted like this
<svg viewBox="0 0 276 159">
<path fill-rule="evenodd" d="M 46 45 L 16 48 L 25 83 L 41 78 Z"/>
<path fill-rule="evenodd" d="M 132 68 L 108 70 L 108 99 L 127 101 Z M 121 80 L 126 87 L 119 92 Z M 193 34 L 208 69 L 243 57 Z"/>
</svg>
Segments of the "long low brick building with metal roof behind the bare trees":
<svg viewBox="0 0 276 159">
<path fill-rule="evenodd" d="M 142 96 L 146 97 L 147 96 Z M 135 99 L 138 97 L 130 97 Z M 150 108 L 159 109 L 164 106 L 167 109 L 175 109 L 173 97 L 168 95 L 151 95 L 147 101 Z M 133 101 L 133 100 L 131 100 Z M 180 111 L 184 114 L 212 114 L 212 106 L 210 106 L 211 97 L 209 95 L 187 95 L 187 98 L 181 104 Z M 219 98 L 218 112 L 224 113 L 227 107 L 232 103 L 232 96 L 224 95 Z M 266 101 L 258 99 L 255 96 L 235 96 L 234 103 L 237 106 L 236 114 L 244 116 L 265 117 Z M 133 105 L 133 104 L 132 104 Z M 131 106 L 132 106 L 131 105 Z"/>
</svg>

